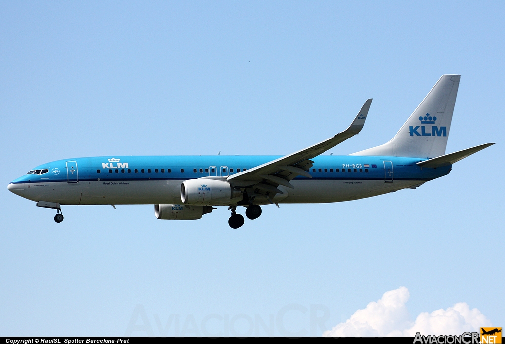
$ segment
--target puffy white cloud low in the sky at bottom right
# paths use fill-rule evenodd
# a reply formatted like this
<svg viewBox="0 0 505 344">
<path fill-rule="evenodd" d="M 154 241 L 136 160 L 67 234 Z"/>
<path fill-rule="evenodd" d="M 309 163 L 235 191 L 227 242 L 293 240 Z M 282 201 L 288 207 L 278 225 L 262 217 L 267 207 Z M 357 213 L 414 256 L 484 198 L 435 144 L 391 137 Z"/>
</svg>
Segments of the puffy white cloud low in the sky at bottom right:
<svg viewBox="0 0 505 344">
<path fill-rule="evenodd" d="M 417 331 L 427 334 L 461 334 L 478 330 L 480 326 L 490 326 L 491 322 L 477 309 L 470 309 L 465 302 L 459 302 L 447 309 L 431 313 L 421 313 L 416 321 L 411 321 L 406 303 L 410 293 L 405 286 L 382 295 L 377 302 L 370 302 L 365 309 L 359 309 L 324 336 L 414 336 Z"/>
</svg>

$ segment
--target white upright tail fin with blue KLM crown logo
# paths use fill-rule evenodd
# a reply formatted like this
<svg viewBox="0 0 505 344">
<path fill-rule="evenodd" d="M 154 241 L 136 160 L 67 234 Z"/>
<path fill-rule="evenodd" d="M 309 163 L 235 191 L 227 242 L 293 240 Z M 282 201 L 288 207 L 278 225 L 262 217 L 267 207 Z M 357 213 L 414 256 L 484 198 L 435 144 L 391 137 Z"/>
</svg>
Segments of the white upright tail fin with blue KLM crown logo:
<svg viewBox="0 0 505 344">
<path fill-rule="evenodd" d="M 459 84 L 460 75 L 443 75 L 389 142 L 350 155 L 444 155 Z"/>
</svg>

